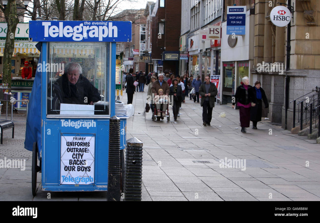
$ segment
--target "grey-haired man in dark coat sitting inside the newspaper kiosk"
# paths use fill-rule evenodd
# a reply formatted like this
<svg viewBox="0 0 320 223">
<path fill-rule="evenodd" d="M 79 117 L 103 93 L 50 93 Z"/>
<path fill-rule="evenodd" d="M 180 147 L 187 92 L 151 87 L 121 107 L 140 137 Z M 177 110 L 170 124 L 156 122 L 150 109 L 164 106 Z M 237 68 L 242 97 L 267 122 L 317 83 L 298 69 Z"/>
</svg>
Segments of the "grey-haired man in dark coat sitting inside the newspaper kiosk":
<svg viewBox="0 0 320 223">
<path fill-rule="evenodd" d="M 101 100 L 98 89 L 82 75 L 82 68 L 78 63 L 68 63 L 57 83 L 62 93 L 61 103 L 93 105 L 93 102 Z"/>
</svg>

